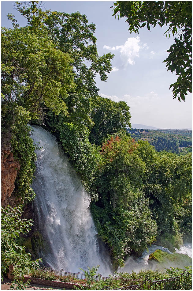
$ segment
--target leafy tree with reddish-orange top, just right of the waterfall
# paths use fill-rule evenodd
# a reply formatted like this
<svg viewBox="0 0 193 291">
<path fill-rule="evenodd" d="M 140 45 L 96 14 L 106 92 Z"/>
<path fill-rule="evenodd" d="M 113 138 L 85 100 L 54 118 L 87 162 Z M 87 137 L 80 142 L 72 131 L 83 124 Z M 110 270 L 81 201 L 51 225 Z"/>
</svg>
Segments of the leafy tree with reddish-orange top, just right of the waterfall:
<svg viewBox="0 0 193 291">
<path fill-rule="evenodd" d="M 99 163 L 98 202 L 92 205 L 98 234 L 108 245 L 114 266 L 123 265 L 131 250 L 143 251 L 155 240 L 156 223 L 148 199 L 139 190 L 145 162 L 138 156 L 137 143 L 122 134 L 111 136 L 102 146 Z"/>
</svg>

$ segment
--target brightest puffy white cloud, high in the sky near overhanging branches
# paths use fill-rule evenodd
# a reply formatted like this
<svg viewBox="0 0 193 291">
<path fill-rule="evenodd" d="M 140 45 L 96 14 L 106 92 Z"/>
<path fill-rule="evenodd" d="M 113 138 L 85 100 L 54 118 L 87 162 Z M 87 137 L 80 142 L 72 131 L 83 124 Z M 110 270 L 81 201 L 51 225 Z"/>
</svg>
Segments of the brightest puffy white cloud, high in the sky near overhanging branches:
<svg viewBox="0 0 193 291">
<path fill-rule="evenodd" d="M 149 47 L 147 46 L 147 43 L 142 43 L 139 36 L 137 36 L 129 37 L 123 45 L 116 47 L 109 47 L 104 45 L 103 48 L 110 51 L 120 51 L 120 58 L 126 67 L 128 64 L 134 65 L 134 59 L 139 57 L 139 51 L 142 49 L 147 50 Z"/>
</svg>

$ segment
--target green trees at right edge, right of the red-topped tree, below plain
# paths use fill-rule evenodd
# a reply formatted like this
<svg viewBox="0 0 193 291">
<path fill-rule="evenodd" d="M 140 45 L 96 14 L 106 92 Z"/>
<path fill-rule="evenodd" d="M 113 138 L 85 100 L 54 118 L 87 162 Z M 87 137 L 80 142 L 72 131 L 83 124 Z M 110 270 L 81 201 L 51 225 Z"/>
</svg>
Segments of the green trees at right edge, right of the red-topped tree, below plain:
<svg viewBox="0 0 193 291">
<path fill-rule="evenodd" d="M 156 153 L 147 141 L 139 141 L 137 150 L 146 164 L 143 191 L 150 200 L 150 209 L 158 225 L 158 236 L 164 236 L 168 241 L 167 246 L 172 250 L 172 244 L 176 243 L 176 247 L 179 244 L 179 230 L 183 229 L 184 234 L 191 232 L 190 212 L 187 209 L 191 197 L 191 154 L 177 156 L 165 151 Z M 189 216 L 184 225 L 180 209 L 184 209 Z"/>
</svg>

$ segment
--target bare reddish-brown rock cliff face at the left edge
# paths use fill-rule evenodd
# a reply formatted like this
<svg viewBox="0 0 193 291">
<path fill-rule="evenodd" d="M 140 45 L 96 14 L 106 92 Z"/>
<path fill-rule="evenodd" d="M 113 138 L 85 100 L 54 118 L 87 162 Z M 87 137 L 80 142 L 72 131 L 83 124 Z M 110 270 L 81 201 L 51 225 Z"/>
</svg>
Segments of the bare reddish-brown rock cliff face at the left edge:
<svg viewBox="0 0 193 291">
<path fill-rule="evenodd" d="M 1 205 L 15 207 L 21 198 L 14 195 L 15 180 L 20 170 L 19 162 L 14 160 L 9 142 L 2 143 L 1 150 Z"/>
</svg>

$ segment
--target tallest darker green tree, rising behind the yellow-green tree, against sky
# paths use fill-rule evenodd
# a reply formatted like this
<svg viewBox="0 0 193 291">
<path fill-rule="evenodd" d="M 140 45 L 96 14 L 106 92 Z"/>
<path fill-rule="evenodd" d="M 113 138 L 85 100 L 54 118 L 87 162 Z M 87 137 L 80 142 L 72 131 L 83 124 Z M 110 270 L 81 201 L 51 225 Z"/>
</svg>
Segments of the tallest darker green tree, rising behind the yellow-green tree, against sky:
<svg viewBox="0 0 193 291">
<path fill-rule="evenodd" d="M 101 80 L 106 81 L 113 58 L 110 53 L 98 55 L 95 24 L 88 24 L 87 17 L 78 11 L 72 14 L 44 11 L 41 3 L 36 1 L 16 2 L 15 8 L 27 19 L 32 31 L 37 33 L 46 29 L 55 47 L 72 58 L 76 90 L 69 89 L 65 100 L 70 122 L 80 124 L 81 119 L 82 124 L 91 127 L 91 104 L 98 93 L 95 76 L 98 73 Z"/>
</svg>

